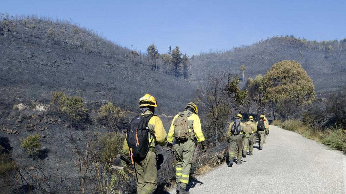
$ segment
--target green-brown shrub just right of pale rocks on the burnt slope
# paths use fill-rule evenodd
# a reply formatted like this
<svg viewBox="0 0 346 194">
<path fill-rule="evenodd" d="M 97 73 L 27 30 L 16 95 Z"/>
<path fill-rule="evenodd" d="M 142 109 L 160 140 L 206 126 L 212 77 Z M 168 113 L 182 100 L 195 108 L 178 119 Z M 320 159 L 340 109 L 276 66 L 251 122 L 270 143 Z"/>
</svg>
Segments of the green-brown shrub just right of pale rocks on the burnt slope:
<svg viewBox="0 0 346 194">
<path fill-rule="evenodd" d="M 88 109 L 84 105 L 83 98 L 78 96 L 66 96 L 63 91 L 52 91 L 52 105 L 59 117 L 66 115 L 72 122 L 85 120 Z"/>
</svg>

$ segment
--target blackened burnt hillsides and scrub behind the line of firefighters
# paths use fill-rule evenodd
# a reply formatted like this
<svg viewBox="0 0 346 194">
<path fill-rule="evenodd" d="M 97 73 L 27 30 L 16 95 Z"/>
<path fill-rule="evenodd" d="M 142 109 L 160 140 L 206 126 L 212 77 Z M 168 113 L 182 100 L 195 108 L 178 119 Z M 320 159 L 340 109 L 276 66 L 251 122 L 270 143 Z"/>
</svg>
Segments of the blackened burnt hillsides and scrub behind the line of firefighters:
<svg viewBox="0 0 346 194">
<path fill-rule="evenodd" d="M 199 154 L 191 177 L 225 161 L 227 151 L 214 145 L 224 140 L 227 122 L 237 113 L 246 113 L 244 118 L 253 113 L 302 119 L 309 126 L 345 126 L 346 95 L 340 88 L 345 85 L 346 40 L 273 37 L 190 58 L 178 46 L 167 46 L 164 53 L 154 43 L 144 52 L 120 46 L 72 20 L 0 16 L 4 193 L 136 192 L 132 167 L 124 164 L 124 171 L 115 171 L 110 165 L 121 150 L 130 118 L 139 114 L 138 98 L 146 93 L 158 100 L 155 114 L 166 129 L 187 103 L 199 106 L 211 149 Z M 285 59 L 299 62 L 312 78 L 312 106 L 292 98 L 265 100 L 265 74 Z M 297 106 L 287 109 L 291 104 Z M 344 149 L 344 133 L 334 131 L 343 138 L 326 141 Z M 157 147 L 158 153 L 165 149 Z M 168 155 L 158 171 L 158 193 L 175 181 L 175 157 Z"/>
</svg>

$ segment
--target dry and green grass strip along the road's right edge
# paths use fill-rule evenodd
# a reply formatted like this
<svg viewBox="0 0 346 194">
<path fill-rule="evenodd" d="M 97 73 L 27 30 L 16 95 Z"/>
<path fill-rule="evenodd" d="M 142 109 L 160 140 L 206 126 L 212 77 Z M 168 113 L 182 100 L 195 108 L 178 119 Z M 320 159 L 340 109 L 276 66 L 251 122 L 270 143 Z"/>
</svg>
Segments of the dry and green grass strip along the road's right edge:
<svg viewBox="0 0 346 194">
<path fill-rule="evenodd" d="M 281 120 L 274 120 L 272 125 L 294 131 L 346 154 L 346 130 L 341 127 L 335 126 L 323 129 L 319 126 L 304 124 L 296 119 L 286 120 L 283 123 Z"/>
</svg>

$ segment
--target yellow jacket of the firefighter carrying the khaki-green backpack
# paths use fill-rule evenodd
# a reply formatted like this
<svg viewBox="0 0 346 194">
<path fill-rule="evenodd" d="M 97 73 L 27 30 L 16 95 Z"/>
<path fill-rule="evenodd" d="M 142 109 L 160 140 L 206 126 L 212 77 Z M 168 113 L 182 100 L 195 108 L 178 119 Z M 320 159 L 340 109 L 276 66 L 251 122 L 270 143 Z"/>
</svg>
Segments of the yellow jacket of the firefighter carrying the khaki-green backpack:
<svg viewBox="0 0 346 194">
<path fill-rule="evenodd" d="M 189 111 L 189 110 L 185 110 Z M 191 111 L 189 111 L 191 112 Z M 192 112 L 191 112 L 192 113 Z M 174 120 L 179 116 L 179 114 L 175 115 L 172 124 L 170 127 L 170 130 L 168 132 L 167 136 L 167 142 L 172 143 L 174 139 Z M 191 138 L 196 138 L 198 142 L 203 142 L 205 140 L 202 127 L 201 127 L 201 121 L 199 120 L 199 116 L 192 113 L 188 118 L 188 125 L 190 126 L 189 132 L 191 132 L 191 129 L 193 129 L 194 135 L 191 135 Z"/>
</svg>

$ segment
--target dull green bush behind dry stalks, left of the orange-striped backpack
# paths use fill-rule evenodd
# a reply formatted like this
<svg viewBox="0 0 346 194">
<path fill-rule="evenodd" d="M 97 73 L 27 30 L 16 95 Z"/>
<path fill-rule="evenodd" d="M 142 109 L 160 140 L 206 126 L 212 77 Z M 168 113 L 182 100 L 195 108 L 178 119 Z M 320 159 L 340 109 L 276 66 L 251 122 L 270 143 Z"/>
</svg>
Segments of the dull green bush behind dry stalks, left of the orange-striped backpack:
<svg viewBox="0 0 346 194">
<path fill-rule="evenodd" d="M 116 155 L 121 152 L 124 140 L 124 134 L 116 132 L 103 134 L 98 140 L 98 145 L 100 146 L 100 161 L 110 165 Z"/>
</svg>

